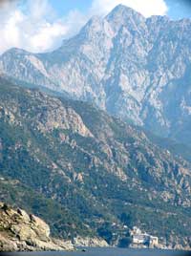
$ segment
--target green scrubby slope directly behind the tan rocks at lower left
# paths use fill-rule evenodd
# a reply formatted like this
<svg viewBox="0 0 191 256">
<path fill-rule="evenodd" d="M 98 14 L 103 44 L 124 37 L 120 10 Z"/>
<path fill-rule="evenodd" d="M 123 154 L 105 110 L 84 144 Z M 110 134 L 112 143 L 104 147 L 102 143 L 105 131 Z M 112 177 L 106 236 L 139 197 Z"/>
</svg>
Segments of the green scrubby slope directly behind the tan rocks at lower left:
<svg viewBox="0 0 191 256">
<path fill-rule="evenodd" d="M 0 181 L 0 201 L 22 207 L 51 225 L 52 234 L 59 238 L 71 238 L 76 234 L 93 236 L 94 232 L 82 224 L 69 209 L 36 193 L 30 187 L 14 180 Z"/>
</svg>

